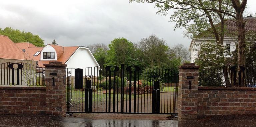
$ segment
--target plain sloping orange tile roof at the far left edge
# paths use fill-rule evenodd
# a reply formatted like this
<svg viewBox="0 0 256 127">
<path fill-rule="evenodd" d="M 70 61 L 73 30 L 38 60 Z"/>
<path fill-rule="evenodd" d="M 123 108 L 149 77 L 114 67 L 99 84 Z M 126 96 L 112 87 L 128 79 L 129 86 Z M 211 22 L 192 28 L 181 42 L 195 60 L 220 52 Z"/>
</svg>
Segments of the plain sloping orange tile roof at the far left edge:
<svg viewBox="0 0 256 127">
<path fill-rule="evenodd" d="M 0 35 L 0 58 L 30 60 L 29 56 L 24 53 L 8 36 Z"/>
</svg>

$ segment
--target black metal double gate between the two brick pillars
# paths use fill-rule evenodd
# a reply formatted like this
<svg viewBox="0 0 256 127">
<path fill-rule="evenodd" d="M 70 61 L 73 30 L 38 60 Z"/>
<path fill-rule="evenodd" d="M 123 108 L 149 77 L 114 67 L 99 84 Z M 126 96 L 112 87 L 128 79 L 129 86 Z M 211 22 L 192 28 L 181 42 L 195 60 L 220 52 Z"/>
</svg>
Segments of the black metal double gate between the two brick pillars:
<svg viewBox="0 0 256 127">
<path fill-rule="evenodd" d="M 66 113 L 177 114 L 178 70 L 118 64 L 66 73 Z"/>
</svg>

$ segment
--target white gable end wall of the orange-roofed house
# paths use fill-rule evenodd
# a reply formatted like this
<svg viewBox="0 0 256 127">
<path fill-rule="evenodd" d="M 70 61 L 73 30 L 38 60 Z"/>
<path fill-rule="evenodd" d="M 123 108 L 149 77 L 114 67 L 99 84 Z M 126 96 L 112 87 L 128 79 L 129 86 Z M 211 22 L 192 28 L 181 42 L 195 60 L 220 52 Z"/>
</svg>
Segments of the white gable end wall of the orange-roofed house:
<svg viewBox="0 0 256 127">
<path fill-rule="evenodd" d="M 100 67 L 98 67 L 88 48 L 79 47 L 65 64 L 67 64 L 66 68 L 83 68 L 83 75 L 99 75 Z M 67 71 L 71 71 L 71 76 L 74 76 L 74 69 Z M 70 76 L 70 74 L 66 75 Z"/>
</svg>

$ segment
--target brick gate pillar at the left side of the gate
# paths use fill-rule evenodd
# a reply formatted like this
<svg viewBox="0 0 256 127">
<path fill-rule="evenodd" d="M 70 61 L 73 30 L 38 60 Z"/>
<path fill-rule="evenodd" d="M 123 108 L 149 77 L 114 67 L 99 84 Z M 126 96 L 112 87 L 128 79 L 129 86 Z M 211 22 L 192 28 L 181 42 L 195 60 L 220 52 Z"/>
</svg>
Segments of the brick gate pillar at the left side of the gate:
<svg viewBox="0 0 256 127">
<path fill-rule="evenodd" d="M 46 86 L 45 113 L 47 115 L 65 116 L 66 90 L 64 80 L 67 65 L 54 61 L 44 64 L 44 66 Z"/>
</svg>

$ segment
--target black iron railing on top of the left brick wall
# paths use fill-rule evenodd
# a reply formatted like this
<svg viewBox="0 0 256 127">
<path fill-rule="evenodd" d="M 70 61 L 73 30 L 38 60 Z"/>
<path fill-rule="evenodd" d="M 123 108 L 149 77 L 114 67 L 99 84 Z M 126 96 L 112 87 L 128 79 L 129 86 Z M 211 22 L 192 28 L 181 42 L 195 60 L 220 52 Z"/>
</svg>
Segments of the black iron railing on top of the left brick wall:
<svg viewBox="0 0 256 127">
<path fill-rule="evenodd" d="M 0 85 L 44 86 L 45 68 L 21 62 L 2 63 Z"/>
</svg>

